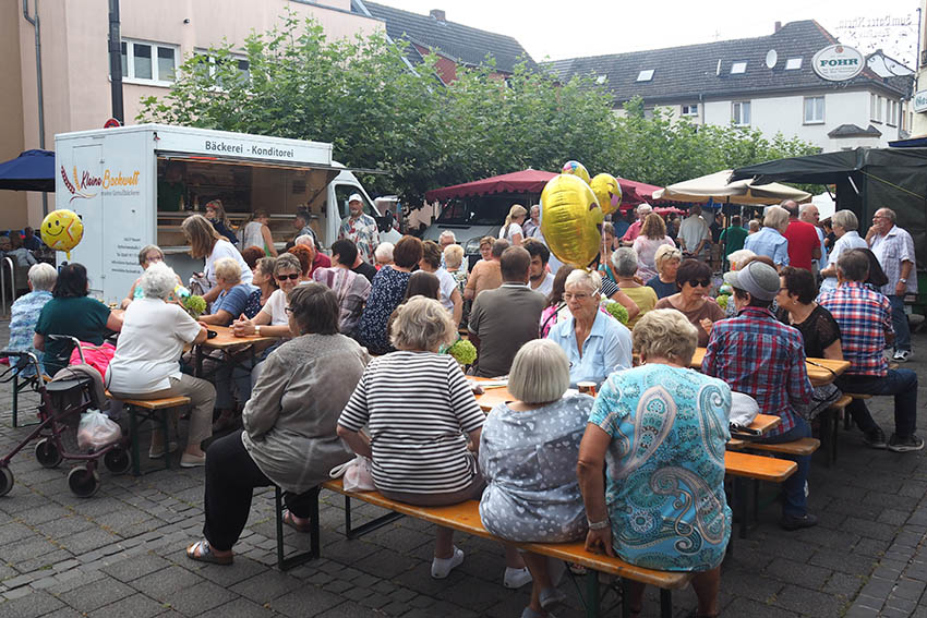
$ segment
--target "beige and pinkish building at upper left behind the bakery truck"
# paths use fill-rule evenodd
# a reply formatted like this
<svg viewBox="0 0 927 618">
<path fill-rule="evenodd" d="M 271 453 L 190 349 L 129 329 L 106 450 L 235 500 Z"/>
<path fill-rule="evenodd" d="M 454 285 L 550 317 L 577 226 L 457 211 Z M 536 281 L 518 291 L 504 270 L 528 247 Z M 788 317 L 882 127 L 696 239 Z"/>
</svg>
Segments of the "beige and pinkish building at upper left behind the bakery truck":
<svg viewBox="0 0 927 618">
<path fill-rule="evenodd" d="M 31 16 L 35 2 L 29 0 Z M 329 38 L 353 37 L 384 27 L 351 11 L 350 0 L 121 0 L 124 117 L 133 123 L 142 98 L 164 96 L 174 70 L 190 54 L 221 46 L 243 48 L 252 32 L 266 32 L 292 11 L 313 17 Z M 110 104 L 107 0 L 39 3 L 45 147 L 55 135 L 99 129 Z M 0 0 L 0 160 L 39 147 L 36 40 L 21 0 Z M 248 70 L 243 56 L 237 59 Z M 49 196 L 53 204 L 53 197 Z M 37 226 L 38 194 L 0 191 L 0 229 Z"/>
</svg>

